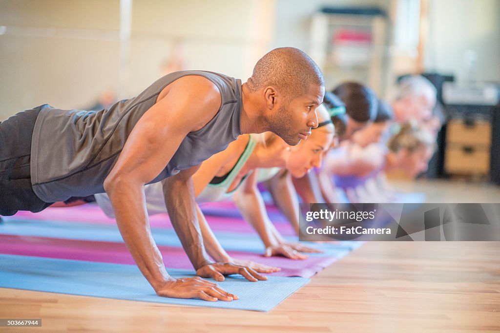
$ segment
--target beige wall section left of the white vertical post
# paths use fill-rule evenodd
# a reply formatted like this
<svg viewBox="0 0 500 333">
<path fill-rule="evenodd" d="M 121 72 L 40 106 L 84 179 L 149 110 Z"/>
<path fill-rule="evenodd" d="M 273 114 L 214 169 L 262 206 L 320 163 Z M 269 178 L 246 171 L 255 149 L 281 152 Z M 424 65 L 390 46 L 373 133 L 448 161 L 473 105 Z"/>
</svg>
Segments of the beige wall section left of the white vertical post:
<svg viewBox="0 0 500 333">
<path fill-rule="evenodd" d="M 118 29 L 117 8 L 117 0 L 0 1 L 0 120 L 42 103 L 88 105 L 113 86 L 118 41 L 103 33 Z"/>
</svg>

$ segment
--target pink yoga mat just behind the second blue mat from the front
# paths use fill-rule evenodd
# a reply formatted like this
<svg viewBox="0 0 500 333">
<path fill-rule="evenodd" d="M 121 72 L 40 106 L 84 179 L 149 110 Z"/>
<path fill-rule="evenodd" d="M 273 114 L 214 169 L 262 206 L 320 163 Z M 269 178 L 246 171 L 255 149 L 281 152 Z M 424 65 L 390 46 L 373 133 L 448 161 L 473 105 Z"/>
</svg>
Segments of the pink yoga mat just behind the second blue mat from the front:
<svg viewBox="0 0 500 333">
<path fill-rule="evenodd" d="M 212 204 L 211 202 L 208 204 Z M 225 209 L 236 209 L 233 203 L 224 203 L 221 205 L 218 202 L 213 203 L 215 206 Z M 232 205 L 232 208 L 231 208 Z M 38 213 L 30 211 L 19 211 L 15 215 L 18 218 L 34 219 L 34 220 L 50 220 L 50 221 L 68 221 L 78 223 L 101 223 L 101 224 L 115 224 L 114 218 L 107 217 L 96 204 L 84 204 L 73 207 L 49 207 Z M 206 220 L 214 231 L 226 232 L 241 232 L 241 233 L 254 233 L 254 229 L 246 223 L 243 219 L 238 217 L 226 216 L 211 216 L 206 215 Z M 153 228 L 172 228 L 170 219 L 167 214 L 155 214 L 149 216 L 149 223 Z M 288 222 L 274 223 L 276 228 L 282 235 L 294 235 L 295 232 Z"/>
</svg>

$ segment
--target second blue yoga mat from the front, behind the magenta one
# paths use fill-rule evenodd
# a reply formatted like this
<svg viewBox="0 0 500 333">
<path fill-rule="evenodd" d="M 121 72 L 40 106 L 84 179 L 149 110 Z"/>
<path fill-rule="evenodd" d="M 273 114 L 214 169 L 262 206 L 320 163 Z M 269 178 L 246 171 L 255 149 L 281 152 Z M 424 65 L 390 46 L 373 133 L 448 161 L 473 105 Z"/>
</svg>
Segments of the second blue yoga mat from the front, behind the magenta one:
<svg viewBox="0 0 500 333">
<path fill-rule="evenodd" d="M 63 221 L 30 220 L 16 217 L 5 217 L 0 224 L 1 234 L 20 236 L 52 237 L 97 241 L 123 241 L 116 225 L 98 223 L 72 223 Z M 152 228 L 153 238 L 158 245 L 181 246 L 173 229 Z M 225 250 L 262 253 L 263 244 L 256 234 L 236 232 L 215 232 L 217 239 Z M 297 237 L 286 237 L 296 241 Z M 313 256 L 341 257 L 350 250 L 359 247 L 361 242 L 342 241 L 337 243 L 307 243 L 320 248 L 323 253 L 310 253 Z"/>
</svg>

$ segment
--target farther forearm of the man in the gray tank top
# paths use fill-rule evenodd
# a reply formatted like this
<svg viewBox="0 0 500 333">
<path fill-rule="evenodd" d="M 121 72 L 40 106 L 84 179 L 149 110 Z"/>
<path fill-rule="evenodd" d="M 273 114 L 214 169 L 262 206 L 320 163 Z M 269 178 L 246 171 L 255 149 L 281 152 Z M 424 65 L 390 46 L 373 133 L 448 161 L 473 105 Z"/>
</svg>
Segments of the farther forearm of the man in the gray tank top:
<svg viewBox="0 0 500 333">
<path fill-rule="evenodd" d="M 163 187 L 168 216 L 193 267 L 211 263 L 203 246 L 191 177 L 167 178 Z"/>
</svg>

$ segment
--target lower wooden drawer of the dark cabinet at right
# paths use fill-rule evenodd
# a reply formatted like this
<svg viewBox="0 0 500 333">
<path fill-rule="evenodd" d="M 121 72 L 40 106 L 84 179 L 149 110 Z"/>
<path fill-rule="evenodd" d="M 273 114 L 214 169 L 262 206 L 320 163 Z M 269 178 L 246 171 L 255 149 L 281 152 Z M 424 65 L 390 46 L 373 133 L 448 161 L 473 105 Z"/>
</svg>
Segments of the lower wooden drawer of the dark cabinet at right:
<svg viewBox="0 0 500 333">
<path fill-rule="evenodd" d="M 489 149 L 453 145 L 446 148 L 444 167 L 449 173 L 489 173 Z"/>
</svg>

